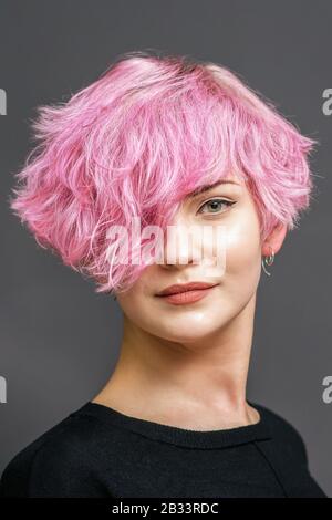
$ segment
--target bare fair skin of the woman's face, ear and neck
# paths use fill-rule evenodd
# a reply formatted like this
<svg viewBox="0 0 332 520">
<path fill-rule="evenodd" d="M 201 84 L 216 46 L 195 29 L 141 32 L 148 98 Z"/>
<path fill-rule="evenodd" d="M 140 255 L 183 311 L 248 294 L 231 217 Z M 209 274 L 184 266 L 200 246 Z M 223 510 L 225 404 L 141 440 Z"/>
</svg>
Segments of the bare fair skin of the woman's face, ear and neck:
<svg viewBox="0 0 332 520">
<path fill-rule="evenodd" d="M 211 266 L 193 261 L 203 247 L 197 233 L 191 250 L 181 240 L 173 262 L 148 266 L 129 290 L 118 292 L 124 313 L 120 357 L 92 402 L 132 417 L 194 430 L 235 428 L 260 420 L 246 398 L 256 294 L 262 256 L 270 254 L 270 247 L 278 253 L 287 228 L 274 228 L 262 241 L 246 183 L 235 176 L 228 179 L 237 184 L 221 184 L 184 199 L 173 222 L 184 229 L 225 226 L 225 269 L 216 267 L 211 239 L 204 242 Z M 227 207 L 220 199 L 236 204 Z M 167 242 L 165 253 L 168 247 Z M 179 261 L 183 254 L 186 263 Z M 272 267 L 268 270 L 272 272 Z M 186 305 L 156 297 L 170 284 L 189 281 L 218 285 L 203 300 Z"/>
</svg>

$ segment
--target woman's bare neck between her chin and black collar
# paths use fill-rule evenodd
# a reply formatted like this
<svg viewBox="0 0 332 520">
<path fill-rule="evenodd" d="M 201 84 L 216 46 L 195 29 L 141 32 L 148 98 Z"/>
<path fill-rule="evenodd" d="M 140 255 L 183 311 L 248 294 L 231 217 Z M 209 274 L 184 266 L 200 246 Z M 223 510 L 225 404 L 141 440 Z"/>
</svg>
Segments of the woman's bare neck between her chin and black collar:
<svg viewBox="0 0 332 520">
<path fill-rule="evenodd" d="M 246 399 L 256 294 L 220 330 L 195 342 L 152 335 L 124 316 L 121 354 L 94 402 L 188 429 L 253 424 Z"/>
</svg>

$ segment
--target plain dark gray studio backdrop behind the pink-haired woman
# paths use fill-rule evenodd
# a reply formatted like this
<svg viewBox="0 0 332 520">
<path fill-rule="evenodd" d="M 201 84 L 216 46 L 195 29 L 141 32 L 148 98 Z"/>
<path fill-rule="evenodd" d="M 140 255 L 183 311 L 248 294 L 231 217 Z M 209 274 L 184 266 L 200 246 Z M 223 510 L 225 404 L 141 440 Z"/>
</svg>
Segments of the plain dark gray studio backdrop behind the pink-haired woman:
<svg viewBox="0 0 332 520">
<path fill-rule="evenodd" d="M 31 149 L 35 107 L 66 100 L 126 51 L 217 61 L 277 103 L 320 146 L 317 196 L 258 291 L 248 398 L 302 434 L 310 469 L 332 495 L 331 147 L 332 3 L 325 1 L 1 1 L 0 472 L 25 445 L 82 406 L 114 368 L 122 313 L 107 295 L 40 248 L 10 214 L 13 171 Z"/>
</svg>

